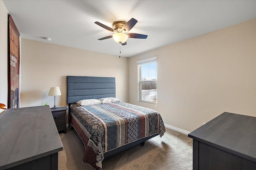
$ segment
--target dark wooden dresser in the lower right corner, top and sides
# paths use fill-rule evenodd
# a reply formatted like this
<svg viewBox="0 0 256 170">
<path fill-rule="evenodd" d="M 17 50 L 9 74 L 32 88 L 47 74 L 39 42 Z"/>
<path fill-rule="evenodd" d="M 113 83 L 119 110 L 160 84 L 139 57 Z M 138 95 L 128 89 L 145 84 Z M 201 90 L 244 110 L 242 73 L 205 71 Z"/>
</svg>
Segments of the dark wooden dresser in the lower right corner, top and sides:
<svg viewBox="0 0 256 170">
<path fill-rule="evenodd" d="M 224 112 L 188 137 L 193 170 L 256 170 L 256 117 Z"/>
</svg>

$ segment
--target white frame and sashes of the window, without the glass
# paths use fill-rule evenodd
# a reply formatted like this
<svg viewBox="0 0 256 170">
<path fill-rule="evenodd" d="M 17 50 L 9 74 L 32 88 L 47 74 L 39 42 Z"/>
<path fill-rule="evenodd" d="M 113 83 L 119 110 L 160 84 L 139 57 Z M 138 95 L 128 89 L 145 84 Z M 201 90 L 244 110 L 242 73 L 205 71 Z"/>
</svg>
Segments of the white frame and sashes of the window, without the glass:
<svg viewBox="0 0 256 170">
<path fill-rule="evenodd" d="M 157 79 L 156 80 L 141 80 L 142 79 L 142 76 L 141 76 L 141 74 L 142 74 L 142 72 L 141 72 L 141 65 L 142 64 L 156 63 L 156 74 L 157 74 L 157 62 L 156 62 L 156 59 L 157 59 L 157 57 L 152 57 L 150 59 L 145 59 L 145 60 L 137 61 L 138 73 L 139 73 L 139 75 L 138 75 L 138 95 L 139 95 L 138 96 L 138 101 L 139 102 L 144 102 L 144 103 L 154 104 L 154 105 L 156 105 L 156 103 L 157 103 L 157 100 L 156 100 L 156 102 L 149 102 L 149 101 L 141 99 L 141 95 L 142 95 L 141 94 L 141 92 L 142 92 L 142 82 L 156 82 L 156 84 L 157 84 Z M 156 91 L 157 91 L 157 89 L 156 89 Z M 157 94 L 156 94 L 156 96 L 157 96 Z"/>
</svg>

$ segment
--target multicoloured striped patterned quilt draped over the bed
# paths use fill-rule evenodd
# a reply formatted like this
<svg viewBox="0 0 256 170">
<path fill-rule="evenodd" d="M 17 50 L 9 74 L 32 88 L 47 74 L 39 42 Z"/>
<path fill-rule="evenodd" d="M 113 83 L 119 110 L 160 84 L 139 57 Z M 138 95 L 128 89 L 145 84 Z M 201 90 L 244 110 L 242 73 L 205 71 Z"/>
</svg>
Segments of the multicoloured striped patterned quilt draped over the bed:
<svg viewBox="0 0 256 170">
<path fill-rule="evenodd" d="M 165 133 L 160 114 L 124 102 L 71 106 L 71 124 L 86 148 L 83 162 L 101 168 L 104 152 L 140 138 Z"/>
</svg>

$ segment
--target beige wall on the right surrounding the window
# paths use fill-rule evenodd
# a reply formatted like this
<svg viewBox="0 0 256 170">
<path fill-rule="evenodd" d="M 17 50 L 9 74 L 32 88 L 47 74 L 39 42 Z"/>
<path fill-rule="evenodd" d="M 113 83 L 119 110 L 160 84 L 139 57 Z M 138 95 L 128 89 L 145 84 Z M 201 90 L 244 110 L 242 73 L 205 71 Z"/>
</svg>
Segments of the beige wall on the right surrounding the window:
<svg viewBox="0 0 256 170">
<path fill-rule="evenodd" d="M 171 38 L 171 37 L 166 37 Z M 138 102 L 136 61 L 157 58 L 157 105 Z M 128 59 L 129 103 L 193 131 L 223 112 L 256 116 L 256 19 Z"/>
</svg>

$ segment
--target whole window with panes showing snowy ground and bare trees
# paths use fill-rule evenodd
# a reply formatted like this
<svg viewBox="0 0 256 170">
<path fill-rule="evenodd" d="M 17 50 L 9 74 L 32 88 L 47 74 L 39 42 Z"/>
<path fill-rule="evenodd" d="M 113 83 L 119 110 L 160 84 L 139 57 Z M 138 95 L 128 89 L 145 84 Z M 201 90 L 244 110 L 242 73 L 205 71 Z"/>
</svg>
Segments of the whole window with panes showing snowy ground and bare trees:
<svg viewBox="0 0 256 170">
<path fill-rule="evenodd" d="M 156 104 L 156 57 L 137 61 L 139 70 L 139 102 Z"/>
</svg>

